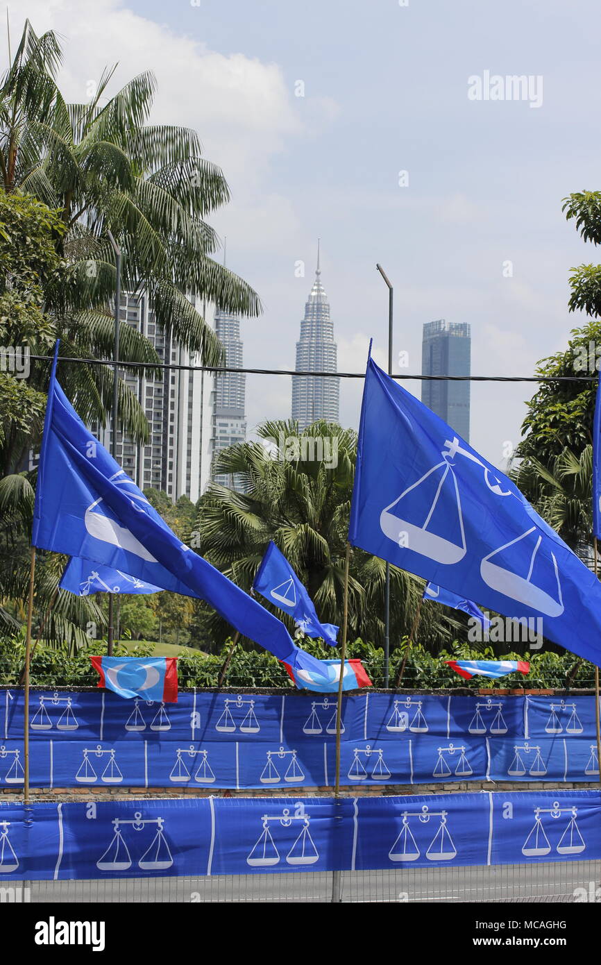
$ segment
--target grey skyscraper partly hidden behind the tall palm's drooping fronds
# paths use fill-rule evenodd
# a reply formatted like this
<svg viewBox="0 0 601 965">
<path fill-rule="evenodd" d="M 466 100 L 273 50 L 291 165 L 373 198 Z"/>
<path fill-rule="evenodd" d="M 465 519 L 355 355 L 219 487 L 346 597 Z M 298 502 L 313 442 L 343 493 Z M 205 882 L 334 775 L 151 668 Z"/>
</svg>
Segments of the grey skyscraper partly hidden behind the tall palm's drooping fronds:
<svg viewBox="0 0 601 965">
<path fill-rule="evenodd" d="M 232 369 L 241 369 L 240 319 L 227 312 L 216 312 L 215 332 L 225 348 L 226 365 Z M 246 375 L 243 372 L 215 375 L 211 433 L 213 457 L 222 449 L 244 442 L 246 439 L 245 402 Z M 215 483 L 229 485 L 234 489 L 242 487 L 238 479 L 232 480 L 230 476 L 213 475 L 213 480 Z"/>
</svg>

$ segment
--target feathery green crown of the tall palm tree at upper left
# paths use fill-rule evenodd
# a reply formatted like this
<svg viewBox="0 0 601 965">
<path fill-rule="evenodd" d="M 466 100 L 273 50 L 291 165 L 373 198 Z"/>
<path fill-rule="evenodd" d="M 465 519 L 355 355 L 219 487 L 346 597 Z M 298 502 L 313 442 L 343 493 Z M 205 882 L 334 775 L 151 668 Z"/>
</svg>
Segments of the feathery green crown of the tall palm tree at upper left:
<svg viewBox="0 0 601 965">
<path fill-rule="evenodd" d="M 205 160 L 195 131 L 148 124 L 150 72 L 107 99 L 115 68 L 106 69 L 89 102 L 67 103 L 54 79 L 60 57 L 55 36 L 37 38 L 27 23 L 0 86 L 0 172 L 6 191 L 33 193 L 61 212 L 58 244 L 72 269 L 63 307 L 110 302 L 110 231 L 123 251 L 124 289 L 145 290 L 165 332 L 218 364 L 222 346 L 186 296 L 260 312 L 256 292 L 210 257 L 219 242 L 205 218 L 230 200 L 223 173 Z"/>
</svg>

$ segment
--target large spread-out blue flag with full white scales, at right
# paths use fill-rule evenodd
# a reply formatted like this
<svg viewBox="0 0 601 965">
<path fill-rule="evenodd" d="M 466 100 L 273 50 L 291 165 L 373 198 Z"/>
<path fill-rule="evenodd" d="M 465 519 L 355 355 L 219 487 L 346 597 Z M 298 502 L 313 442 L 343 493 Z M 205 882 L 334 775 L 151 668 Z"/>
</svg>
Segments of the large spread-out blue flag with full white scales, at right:
<svg viewBox="0 0 601 965">
<path fill-rule="evenodd" d="M 349 539 L 601 663 L 601 583 L 519 489 L 369 359 Z"/>
</svg>

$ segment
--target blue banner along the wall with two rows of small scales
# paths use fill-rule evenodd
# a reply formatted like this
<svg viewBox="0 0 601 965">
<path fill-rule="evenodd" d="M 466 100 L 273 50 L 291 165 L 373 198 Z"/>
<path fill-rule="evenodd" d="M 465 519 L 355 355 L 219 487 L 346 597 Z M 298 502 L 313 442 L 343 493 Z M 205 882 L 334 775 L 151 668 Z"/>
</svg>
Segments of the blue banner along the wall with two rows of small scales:
<svg viewBox="0 0 601 965">
<path fill-rule="evenodd" d="M 593 697 L 353 694 L 343 699 L 346 786 L 457 781 L 591 782 Z M 31 784 L 328 788 L 336 702 L 328 695 L 33 691 Z M 23 784 L 23 693 L 0 691 L 0 786 Z"/>
</svg>

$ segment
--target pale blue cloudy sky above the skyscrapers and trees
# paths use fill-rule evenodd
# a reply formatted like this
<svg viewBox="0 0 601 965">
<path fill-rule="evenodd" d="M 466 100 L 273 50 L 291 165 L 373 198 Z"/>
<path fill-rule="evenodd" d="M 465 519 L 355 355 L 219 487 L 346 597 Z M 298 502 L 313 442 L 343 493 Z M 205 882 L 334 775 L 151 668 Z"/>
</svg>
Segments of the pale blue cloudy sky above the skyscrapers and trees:
<svg viewBox="0 0 601 965">
<path fill-rule="evenodd" d="M 386 364 L 376 262 L 395 286 L 402 372 L 421 372 L 423 322 L 435 318 L 471 324 L 472 372 L 485 375 L 532 375 L 585 320 L 567 310 L 570 268 L 600 259 L 561 201 L 601 188 L 597 0 L 19 0 L 9 10 L 14 41 L 25 16 L 62 35 L 69 99 L 85 100 L 106 64 L 119 63 L 109 93 L 151 69 L 152 121 L 199 132 L 232 191 L 211 223 L 264 308 L 242 322 L 245 365 L 294 367 L 317 237 L 341 372 L 365 369 L 369 338 Z M 512 88 L 511 75 L 530 88 Z M 420 395 L 419 382 L 405 385 Z M 358 425 L 361 390 L 341 382 L 344 426 Z M 472 385 L 470 441 L 494 464 L 519 441 L 534 390 Z M 250 429 L 289 414 L 288 377 L 247 377 Z"/>
</svg>

